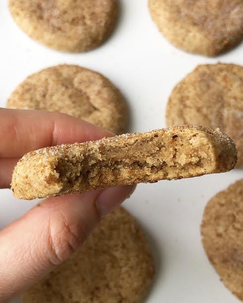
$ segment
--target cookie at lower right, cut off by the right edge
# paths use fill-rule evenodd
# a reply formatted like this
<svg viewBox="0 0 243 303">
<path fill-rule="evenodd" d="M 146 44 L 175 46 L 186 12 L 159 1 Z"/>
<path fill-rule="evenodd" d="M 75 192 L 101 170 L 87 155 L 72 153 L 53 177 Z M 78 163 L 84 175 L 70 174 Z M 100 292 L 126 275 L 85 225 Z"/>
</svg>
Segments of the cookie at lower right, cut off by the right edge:
<svg viewBox="0 0 243 303">
<path fill-rule="evenodd" d="M 243 179 L 208 202 L 201 234 L 205 252 L 221 280 L 243 301 Z"/>
</svg>

